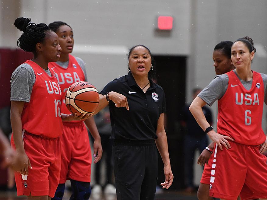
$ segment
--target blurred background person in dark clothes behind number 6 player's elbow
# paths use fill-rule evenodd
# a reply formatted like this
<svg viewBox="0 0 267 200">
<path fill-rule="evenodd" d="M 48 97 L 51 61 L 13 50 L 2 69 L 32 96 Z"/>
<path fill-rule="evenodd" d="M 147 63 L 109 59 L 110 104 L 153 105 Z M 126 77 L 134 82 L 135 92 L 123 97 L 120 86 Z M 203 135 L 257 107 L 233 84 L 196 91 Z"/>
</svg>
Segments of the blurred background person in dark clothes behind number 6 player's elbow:
<svg viewBox="0 0 267 200">
<path fill-rule="evenodd" d="M 192 99 L 201 92 L 201 88 L 195 88 L 192 91 Z M 185 185 L 186 185 L 186 192 L 193 192 L 195 191 L 195 185 L 193 183 L 194 180 L 194 158 L 195 152 L 198 150 L 201 152 L 208 146 L 208 136 L 199 127 L 198 123 L 195 121 L 195 118 L 189 111 L 189 106 L 185 105 L 182 111 L 182 119 L 181 119 L 181 126 L 184 128 L 185 136 L 184 136 L 184 171 L 185 171 Z M 210 124 L 213 123 L 212 120 L 212 111 L 207 107 L 202 107 L 202 111 L 206 116 L 207 121 Z"/>
</svg>

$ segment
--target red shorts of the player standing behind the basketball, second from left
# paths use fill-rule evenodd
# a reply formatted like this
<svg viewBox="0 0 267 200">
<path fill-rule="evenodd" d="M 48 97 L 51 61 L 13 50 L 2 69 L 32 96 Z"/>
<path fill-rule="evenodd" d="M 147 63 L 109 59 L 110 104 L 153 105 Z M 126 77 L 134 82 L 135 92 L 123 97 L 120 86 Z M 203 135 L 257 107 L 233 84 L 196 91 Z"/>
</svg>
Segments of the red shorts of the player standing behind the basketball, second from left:
<svg viewBox="0 0 267 200">
<path fill-rule="evenodd" d="M 64 123 L 61 141 L 60 184 L 68 179 L 91 182 L 91 149 L 84 122 Z"/>
</svg>

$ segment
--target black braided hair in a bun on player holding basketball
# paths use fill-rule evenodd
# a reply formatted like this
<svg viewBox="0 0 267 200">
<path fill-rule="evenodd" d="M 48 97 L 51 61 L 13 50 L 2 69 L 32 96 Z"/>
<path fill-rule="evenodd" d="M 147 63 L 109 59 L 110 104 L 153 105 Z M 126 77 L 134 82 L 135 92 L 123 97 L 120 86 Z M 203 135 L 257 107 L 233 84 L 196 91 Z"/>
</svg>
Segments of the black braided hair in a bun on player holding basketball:
<svg viewBox="0 0 267 200">
<path fill-rule="evenodd" d="M 23 31 L 17 41 L 18 47 L 24 51 L 35 52 L 36 44 L 44 41 L 46 31 L 51 30 L 44 23 L 32 23 L 29 18 L 19 17 L 15 20 L 14 25 L 17 29 Z"/>
</svg>

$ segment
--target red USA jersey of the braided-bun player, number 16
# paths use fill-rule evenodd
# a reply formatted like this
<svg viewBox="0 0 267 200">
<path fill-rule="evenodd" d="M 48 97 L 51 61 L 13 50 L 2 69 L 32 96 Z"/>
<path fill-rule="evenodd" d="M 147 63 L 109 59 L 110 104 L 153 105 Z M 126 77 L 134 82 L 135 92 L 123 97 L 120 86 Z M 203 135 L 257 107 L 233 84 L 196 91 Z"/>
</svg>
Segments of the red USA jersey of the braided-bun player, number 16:
<svg viewBox="0 0 267 200">
<path fill-rule="evenodd" d="M 49 67 L 52 77 L 35 62 L 27 60 L 25 63 L 33 68 L 36 79 L 30 102 L 25 102 L 21 114 L 22 128 L 35 135 L 56 138 L 63 133 L 58 79 Z"/>
</svg>

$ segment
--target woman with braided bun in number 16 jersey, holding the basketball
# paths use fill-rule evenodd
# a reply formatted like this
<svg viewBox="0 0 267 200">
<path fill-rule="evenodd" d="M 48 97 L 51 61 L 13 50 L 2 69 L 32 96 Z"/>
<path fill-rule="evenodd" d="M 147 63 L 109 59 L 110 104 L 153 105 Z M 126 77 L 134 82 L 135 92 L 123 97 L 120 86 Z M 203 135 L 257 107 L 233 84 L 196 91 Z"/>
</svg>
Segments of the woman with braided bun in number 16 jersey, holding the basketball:
<svg viewBox="0 0 267 200">
<path fill-rule="evenodd" d="M 30 200 L 50 200 L 58 186 L 62 120 L 86 119 L 89 115 L 61 114 L 61 89 L 48 62 L 60 58 L 58 36 L 44 23 L 35 24 L 28 18 L 15 20 L 23 31 L 18 47 L 33 52 L 11 77 L 11 144 L 23 158 L 15 172 L 17 195 Z"/>
</svg>

